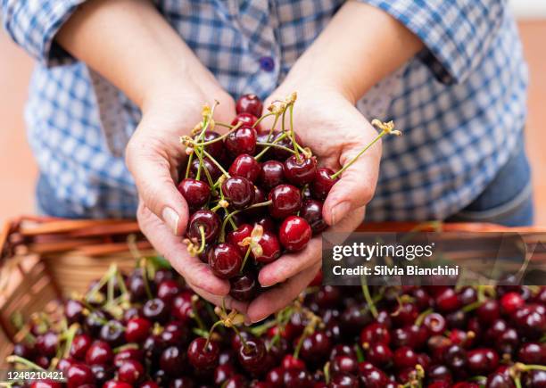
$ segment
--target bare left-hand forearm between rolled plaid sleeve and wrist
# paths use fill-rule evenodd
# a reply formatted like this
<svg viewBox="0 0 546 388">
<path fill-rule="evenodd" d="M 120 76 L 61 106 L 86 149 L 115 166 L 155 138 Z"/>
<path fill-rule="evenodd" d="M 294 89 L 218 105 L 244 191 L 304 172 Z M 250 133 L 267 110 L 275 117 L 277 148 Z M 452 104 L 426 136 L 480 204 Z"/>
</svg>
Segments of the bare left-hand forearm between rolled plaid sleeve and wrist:
<svg viewBox="0 0 546 388">
<path fill-rule="evenodd" d="M 56 39 L 143 109 L 167 87 L 216 85 L 150 0 L 90 0 Z"/>
</svg>

